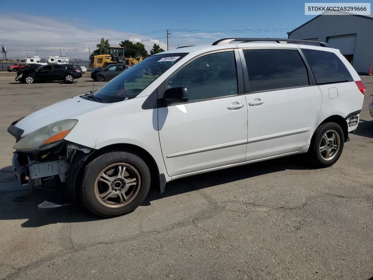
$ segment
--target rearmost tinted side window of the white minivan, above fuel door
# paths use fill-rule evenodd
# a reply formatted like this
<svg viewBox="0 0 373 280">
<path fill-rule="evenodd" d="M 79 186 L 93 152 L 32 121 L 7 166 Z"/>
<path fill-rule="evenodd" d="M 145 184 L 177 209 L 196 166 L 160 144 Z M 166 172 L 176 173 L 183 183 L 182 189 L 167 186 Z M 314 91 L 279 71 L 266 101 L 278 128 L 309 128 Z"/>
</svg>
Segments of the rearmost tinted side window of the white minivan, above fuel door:
<svg viewBox="0 0 373 280">
<path fill-rule="evenodd" d="M 310 63 L 317 84 L 333 84 L 352 81 L 350 72 L 339 57 L 323 50 L 302 49 Z"/>
</svg>

